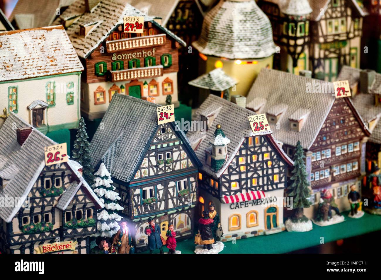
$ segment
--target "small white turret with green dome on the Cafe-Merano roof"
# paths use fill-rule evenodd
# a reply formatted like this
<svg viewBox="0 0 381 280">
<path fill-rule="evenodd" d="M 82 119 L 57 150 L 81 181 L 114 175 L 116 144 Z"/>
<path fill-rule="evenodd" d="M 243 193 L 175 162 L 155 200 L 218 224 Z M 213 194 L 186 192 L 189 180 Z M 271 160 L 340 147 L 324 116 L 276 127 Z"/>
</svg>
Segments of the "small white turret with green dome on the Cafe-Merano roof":
<svg viewBox="0 0 381 280">
<path fill-rule="evenodd" d="M 230 139 L 225 136 L 221 125 L 216 125 L 213 141 L 209 143 L 212 145 L 210 167 L 217 172 L 224 165 L 227 156 L 227 145 L 230 143 Z"/>
</svg>

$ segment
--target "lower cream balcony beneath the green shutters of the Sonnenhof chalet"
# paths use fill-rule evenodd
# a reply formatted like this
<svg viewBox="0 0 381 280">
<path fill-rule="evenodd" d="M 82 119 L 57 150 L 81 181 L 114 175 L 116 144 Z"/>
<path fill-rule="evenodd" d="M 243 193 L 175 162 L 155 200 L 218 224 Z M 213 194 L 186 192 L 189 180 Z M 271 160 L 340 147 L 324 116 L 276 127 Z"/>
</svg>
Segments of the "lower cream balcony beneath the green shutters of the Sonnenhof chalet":
<svg viewBox="0 0 381 280">
<path fill-rule="evenodd" d="M 111 82 L 120 82 L 128 80 L 139 80 L 146 78 L 161 77 L 163 75 L 163 66 L 149 66 L 133 69 L 110 71 Z"/>
</svg>

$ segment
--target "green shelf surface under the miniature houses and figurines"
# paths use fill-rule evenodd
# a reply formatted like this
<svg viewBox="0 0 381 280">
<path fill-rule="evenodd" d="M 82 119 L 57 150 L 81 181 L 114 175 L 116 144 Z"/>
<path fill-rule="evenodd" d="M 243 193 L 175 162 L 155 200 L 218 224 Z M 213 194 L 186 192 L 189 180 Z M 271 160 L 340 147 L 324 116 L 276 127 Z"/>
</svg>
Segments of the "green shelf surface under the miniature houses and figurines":
<svg viewBox="0 0 381 280">
<path fill-rule="evenodd" d="M 272 235 L 241 239 L 237 240 L 236 243 L 224 242 L 225 248 L 220 254 L 288 253 L 320 245 L 322 237 L 324 243 L 328 243 L 381 230 L 381 216 L 365 213 L 360 219 L 352 219 L 348 217 L 348 213 L 343 213 L 346 219 L 344 222 L 326 227 L 314 224 L 313 229 L 309 232 L 284 231 Z M 193 254 L 195 248 L 193 241 L 193 239 L 187 239 L 178 242 L 176 250 L 180 250 L 182 254 Z M 164 251 L 168 251 L 168 249 L 164 248 Z M 158 253 L 158 250 L 155 253 Z"/>
</svg>

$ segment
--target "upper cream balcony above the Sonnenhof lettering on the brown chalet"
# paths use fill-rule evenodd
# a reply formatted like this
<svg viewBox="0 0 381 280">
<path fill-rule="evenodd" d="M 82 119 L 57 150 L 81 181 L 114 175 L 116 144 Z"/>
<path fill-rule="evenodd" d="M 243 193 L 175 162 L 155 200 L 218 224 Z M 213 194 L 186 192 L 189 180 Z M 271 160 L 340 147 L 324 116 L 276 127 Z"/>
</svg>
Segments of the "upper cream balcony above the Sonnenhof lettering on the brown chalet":
<svg viewBox="0 0 381 280">
<path fill-rule="evenodd" d="M 165 44 L 165 41 L 165 34 L 125 38 L 114 41 L 106 41 L 106 49 L 108 53 L 115 53 L 117 51 L 128 51 L 161 46 Z"/>
</svg>

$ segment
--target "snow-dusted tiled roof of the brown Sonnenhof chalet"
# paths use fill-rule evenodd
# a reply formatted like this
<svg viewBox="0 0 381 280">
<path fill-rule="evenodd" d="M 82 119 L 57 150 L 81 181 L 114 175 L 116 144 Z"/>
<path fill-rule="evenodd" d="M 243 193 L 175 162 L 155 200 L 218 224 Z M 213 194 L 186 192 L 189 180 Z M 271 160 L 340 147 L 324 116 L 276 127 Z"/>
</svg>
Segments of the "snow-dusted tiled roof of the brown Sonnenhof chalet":
<svg viewBox="0 0 381 280">
<path fill-rule="evenodd" d="M 87 58 L 118 24 L 123 24 L 125 16 L 144 16 L 144 21 L 151 22 L 163 33 L 172 37 L 177 42 L 186 46 L 186 43 L 171 31 L 154 21 L 154 18 L 147 16 L 123 0 L 101 0 L 91 12 L 85 12 L 85 0 L 77 0 L 62 13 L 61 18 L 71 18 L 73 15 L 81 14 L 80 18 L 67 28 L 67 34 L 72 42 L 77 54 L 81 58 Z M 80 25 L 83 22 L 98 21 L 98 26 L 94 27 L 86 36 L 79 35 Z M 55 21 L 58 23 L 59 19 Z"/>
</svg>

